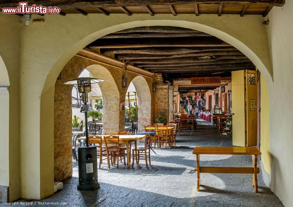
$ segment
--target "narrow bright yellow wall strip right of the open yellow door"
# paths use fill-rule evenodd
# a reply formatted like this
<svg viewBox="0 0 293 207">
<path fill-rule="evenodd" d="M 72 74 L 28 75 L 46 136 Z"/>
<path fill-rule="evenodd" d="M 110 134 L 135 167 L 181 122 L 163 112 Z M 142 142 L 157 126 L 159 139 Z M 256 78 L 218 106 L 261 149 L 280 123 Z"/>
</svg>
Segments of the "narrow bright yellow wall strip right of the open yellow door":
<svg viewBox="0 0 293 207">
<path fill-rule="evenodd" d="M 270 108 L 267 85 L 260 76 L 260 151 L 265 171 L 270 174 Z"/>
</svg>

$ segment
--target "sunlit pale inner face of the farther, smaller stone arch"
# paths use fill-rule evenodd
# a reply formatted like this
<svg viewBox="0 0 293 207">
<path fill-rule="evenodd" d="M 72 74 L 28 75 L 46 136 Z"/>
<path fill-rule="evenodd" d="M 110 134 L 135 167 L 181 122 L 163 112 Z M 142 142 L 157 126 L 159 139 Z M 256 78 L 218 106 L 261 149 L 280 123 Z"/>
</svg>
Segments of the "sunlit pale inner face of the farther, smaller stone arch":
<svg viewBox="0 0 293 207">
<path fill-rule="evenodd" d="M 132 83 L 137 92 L 138 99 L 138 129 L 151 124 L 151 92 L 146 79 L 143 76 L 136 76 Z"/>
</svg>

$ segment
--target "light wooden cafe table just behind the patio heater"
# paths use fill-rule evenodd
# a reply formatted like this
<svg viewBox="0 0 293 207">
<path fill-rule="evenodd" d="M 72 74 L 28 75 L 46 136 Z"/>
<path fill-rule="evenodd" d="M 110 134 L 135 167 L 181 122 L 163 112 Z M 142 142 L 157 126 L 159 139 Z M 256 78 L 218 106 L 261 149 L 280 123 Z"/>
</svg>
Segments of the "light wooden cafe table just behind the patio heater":
<svg viewBox="0 0 293 207">
<path fill-rule="evenodd" d="M 103 144 L 105 143 L 104 141 L 104 136 L 109 136 L 109 135 L 96 135 L 96 136 L 102 136 L 103 139 Z M 89 137 L 95 137 L 95 135 L 91 135 Z M 121 142 L 121 144 L 126 144 L 126 157 L 127 157 L 127 167 L 130 167 L 129 164 L 129 160 L 130 160 L 130 155 L 129 155 L 129 143 L 134 142 L 134 147 L 137 148 L 137 140 L 143 139 L 145 137 L 145 135 L 119 135 L 119 142 Z M 77 140 L 85 140 L 86 137 L 79 137 L 77 138 Z M 133 160 L 132 160 L 133 162 Z"/>
</svg>

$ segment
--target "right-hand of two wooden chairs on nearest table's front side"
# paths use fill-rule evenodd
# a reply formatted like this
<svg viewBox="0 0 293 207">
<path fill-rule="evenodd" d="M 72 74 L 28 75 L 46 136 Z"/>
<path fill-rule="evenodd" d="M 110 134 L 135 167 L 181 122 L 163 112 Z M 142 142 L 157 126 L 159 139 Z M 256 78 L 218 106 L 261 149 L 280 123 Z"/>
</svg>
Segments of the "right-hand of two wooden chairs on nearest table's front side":
<svg viewBox="0 0 293 207">
<path fill-rule="evenodd" d="M 104 136 L 105 146 L 106 146 L 106 152 L 108 155 L 111 156 L 111 164 L 115 165 L 116 159 L 117 159 L 117 169 L 119 166 L 119 158 L 120 162 L 122 162 L 122 159 L 124 160 L 124 165 L 126 165 L 125 162 L 125 148 L 120 147 L 120 141 L 119 136 Z M 109 144 L 112 144 L 109 148 Z"/>
</svg>

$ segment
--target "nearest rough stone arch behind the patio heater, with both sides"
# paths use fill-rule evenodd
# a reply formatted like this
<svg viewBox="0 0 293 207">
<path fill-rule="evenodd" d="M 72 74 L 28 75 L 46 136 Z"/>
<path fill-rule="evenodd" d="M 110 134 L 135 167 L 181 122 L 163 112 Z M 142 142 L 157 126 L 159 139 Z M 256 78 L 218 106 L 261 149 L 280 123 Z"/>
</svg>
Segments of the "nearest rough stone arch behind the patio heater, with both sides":
<svg viewBox="0 0 293 207">
<path fill-rule="evenodd" d="M 104 79 L 99 83 L 104 99 L 103 122 L 107 131 L 119 131 L 119 92 L 111 73 L 102 65 L 74 56 L 55 83 L 54 94 L 54 180 L 62 181 L 72 175 L 71 143 L 71 90 L 64 82 L 75 79 L 87 69 L 94 77 Z M 83 115 L 83 114 L 81 114 Z"/>
</svg>

